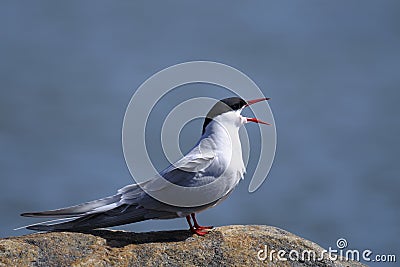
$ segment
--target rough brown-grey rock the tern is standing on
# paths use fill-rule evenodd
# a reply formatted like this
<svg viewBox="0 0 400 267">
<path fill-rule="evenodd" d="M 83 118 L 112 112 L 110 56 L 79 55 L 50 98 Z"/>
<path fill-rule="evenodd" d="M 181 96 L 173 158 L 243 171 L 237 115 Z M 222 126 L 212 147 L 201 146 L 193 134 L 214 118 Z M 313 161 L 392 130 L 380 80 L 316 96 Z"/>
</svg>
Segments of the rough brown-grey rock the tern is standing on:
<svg viewBox="0 0 400 267">
<path fill-rule="evenodd" d="M 0 266 L 365 266 L 344 258 L 273 261 L 264 250 L 321 255 L 317 244 L 271 226 L 223 226 L 204 237 L 189 231 L 35 233 L 0 239 Z"/>
</svg>

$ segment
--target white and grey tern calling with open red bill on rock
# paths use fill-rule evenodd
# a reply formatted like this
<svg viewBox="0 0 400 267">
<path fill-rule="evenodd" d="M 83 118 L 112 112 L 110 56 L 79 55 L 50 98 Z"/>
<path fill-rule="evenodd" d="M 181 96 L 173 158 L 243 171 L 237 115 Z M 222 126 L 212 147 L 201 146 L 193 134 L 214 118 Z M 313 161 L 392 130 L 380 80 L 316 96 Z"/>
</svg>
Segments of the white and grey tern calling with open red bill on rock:
<svg viewBox="0 0 400 267">
<path fill-rule="evenodd" d="M 204 118 L 202 135 L 196 145 L 180 160 L 159 172 L 155 178 L 127 185 L 117 190 L 115 195 L 98 200 L 61 209 L 22 213 L 21 216 L 24 217 L 47 217 L 55 220 L 21 228 L 84 232 L 150 219 L 185 217 L 189 230 L 193 234 L 204 236 L 213 226 L 199 225 L 196 214 L 220 204 L 232 193 L 239 181 L 244 179 L 246 168 L 242 158 L 239 128 L 249 122 L 270 125 L 257 118 L 242 116 L 241 112 L 252 104 L 269 99 L 245 101 L 235 96 L 219 100 Z M 161 195 L 168 191 L 171 184 L 160 186 L 157 183 L 160 178 L 185 187 L 198 187 L 218 179 L 222 179 L 222 182 L 218 183 L 219 190 L 215 191 L 219 195 L 213 196 L 212 194 L 217 194 L 214 190 L 206 192 L 211 194 L 211 201 L 208 201 L 210 203 L 188 207 L 163 203 L 148 193 L 153 189 Z"/>
</svg>

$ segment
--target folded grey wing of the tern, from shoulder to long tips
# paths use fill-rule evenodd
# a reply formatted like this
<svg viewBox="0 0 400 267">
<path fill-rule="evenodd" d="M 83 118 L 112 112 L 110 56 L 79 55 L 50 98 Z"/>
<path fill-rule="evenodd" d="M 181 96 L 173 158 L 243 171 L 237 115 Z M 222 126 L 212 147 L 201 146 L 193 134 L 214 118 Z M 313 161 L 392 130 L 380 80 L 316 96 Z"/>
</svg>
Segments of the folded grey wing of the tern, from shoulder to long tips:
<svg viewBox="0 0 400 267">
<path fill-rule="evenodd" d="M 206 175 L 197 177 L 196 174 L 204 171 L 214 159 L 215 156 L 212 152 L 204 153 L 200 151 L 199 147 L 195 147 L 181 160 L 162 171 L 159 176 L 141 184 L 125 186 L 113 196 L 71 207 L 28 212 L 21 215 L 66 220 L 63 222 L 43 222 L 26 227 L 38 231 L 82 231 L 148 219 L 176 218 L 178 217 L 176 207 L 171 208 L 171 206 L 155 200 L 147 195 L 142 187 L 146 190 L 162 192 L 168 190 L 169 184 L 165 183 L 165 180 L 185 186 L 196 186 L 210 182 L 213 178 Z"/>
</svg>

